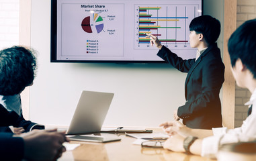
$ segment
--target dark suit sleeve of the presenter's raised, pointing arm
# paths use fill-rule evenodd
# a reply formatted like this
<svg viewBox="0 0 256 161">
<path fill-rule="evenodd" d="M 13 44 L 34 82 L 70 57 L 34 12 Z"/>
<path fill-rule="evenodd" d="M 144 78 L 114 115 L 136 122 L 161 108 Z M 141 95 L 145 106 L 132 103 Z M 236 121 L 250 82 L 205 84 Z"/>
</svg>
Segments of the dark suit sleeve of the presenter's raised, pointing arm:
<svg viewBox="0 0 256 161">
<path fill-rule="evenodd" d="M 163 46 L 157 53 L 157 56 L 171 64 L 174 68 L 181 72 L 188 72 L 191 66 L 194 64 L 195 59 L 183 60 L 177 54 L 171 52 L 168 48 Z"/>
</svg>

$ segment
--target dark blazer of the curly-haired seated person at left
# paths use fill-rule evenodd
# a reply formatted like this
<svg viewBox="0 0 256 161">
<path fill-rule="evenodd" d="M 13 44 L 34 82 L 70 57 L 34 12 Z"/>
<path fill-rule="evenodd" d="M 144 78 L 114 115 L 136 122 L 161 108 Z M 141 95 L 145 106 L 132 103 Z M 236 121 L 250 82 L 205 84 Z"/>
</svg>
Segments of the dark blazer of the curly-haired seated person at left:
<svg viewBox="0 0 256 161">
<path fill-rule="evenodd" d="M 33 126 L 33 129 L 44 129 L 44 125 L 26 121 L 22 115 L 19 116 L 14 111 L 9 112 L 0 104 L 0 132 L 12 132 L 9 129 L 10 125 L 13 127 L 23 127 L 25 132 L 30 131 Z"/>
</svg>

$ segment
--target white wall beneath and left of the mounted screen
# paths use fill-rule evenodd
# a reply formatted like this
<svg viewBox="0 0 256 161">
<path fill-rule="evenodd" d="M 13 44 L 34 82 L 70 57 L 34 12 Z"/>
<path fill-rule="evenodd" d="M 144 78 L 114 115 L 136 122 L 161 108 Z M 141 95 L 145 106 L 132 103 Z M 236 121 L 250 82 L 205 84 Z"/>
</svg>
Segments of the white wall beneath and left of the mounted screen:
<svg viewBox="0 0 256 161">
<path fill-rule="evenodd" d="M 81 90 L 115 93 L 106 126 L 157 126 L 185 102 L 186 74 L 168 64 L 50 63 L 50 0 L 32 0 L 32 48 L 39 53 L 32 121 L 69 125 Z"/>
</svg>

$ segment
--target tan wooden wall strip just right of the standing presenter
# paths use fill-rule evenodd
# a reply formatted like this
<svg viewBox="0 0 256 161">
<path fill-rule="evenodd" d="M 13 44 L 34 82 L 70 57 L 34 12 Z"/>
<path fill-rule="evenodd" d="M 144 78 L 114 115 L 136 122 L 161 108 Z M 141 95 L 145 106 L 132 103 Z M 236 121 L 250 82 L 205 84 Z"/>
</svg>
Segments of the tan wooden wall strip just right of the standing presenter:
<svg viewBox="0 0 256 161">
<path fill-rule="evenodd" d="M 223 62 L 225 68 L 225 81 L 222 87 L 222 117 L 223 125 L 234 128 L 234 99 L 235 81 L 230 68 L 228 55 L 228 38 L 237 28 L 237 0 L 224 0 L 224 38 L 223 38 Z"/>
</svg>

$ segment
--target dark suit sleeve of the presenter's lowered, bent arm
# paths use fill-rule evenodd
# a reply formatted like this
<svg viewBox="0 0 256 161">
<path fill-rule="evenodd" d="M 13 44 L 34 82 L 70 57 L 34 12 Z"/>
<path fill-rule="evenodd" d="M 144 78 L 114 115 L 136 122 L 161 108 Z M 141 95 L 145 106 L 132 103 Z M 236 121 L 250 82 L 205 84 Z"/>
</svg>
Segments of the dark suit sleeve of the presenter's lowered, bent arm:
<svg viewBox="0 0 256 161">
<path fill-rule="evenodd" d="M 208 58 L 202 69 L 202 89 L 196 99 L 188 100 L 179 107 L 177 115 L 187 118 L 196 113 L 204 113 L 214 101 L 219 99 L 220 89 L 224 82 L 224 65 L 221 60 Z"/>
</svg>

